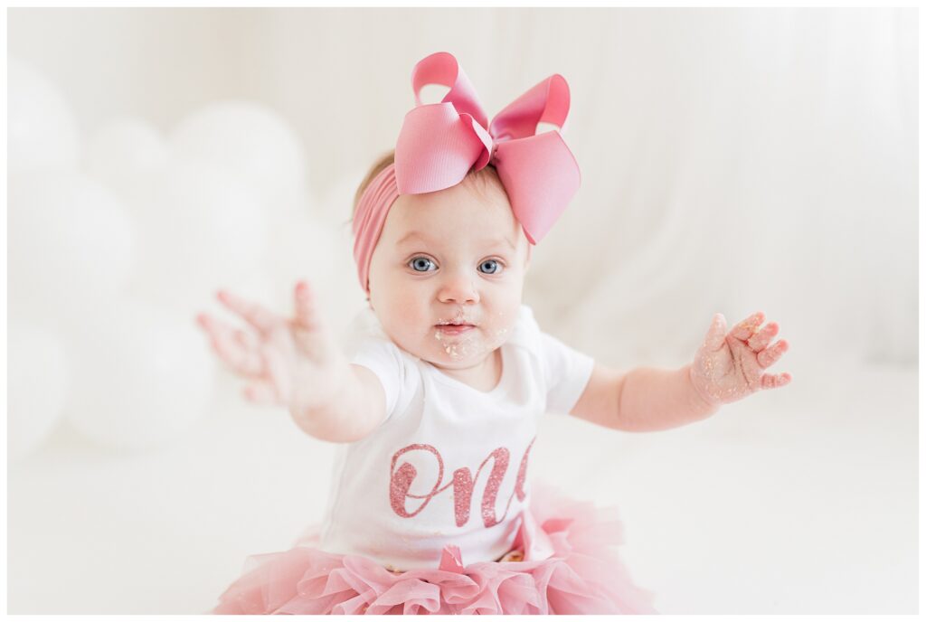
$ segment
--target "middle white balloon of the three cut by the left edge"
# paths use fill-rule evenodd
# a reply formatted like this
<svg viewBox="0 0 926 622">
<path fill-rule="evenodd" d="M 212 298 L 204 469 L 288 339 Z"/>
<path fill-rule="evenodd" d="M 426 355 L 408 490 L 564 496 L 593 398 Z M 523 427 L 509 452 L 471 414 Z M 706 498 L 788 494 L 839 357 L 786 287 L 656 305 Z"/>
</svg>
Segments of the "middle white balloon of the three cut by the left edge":
<svg viewBox="0 0 926 622">
<path fill-rule="evenodd" d="M 77 172 L 9 181 L 10 306 L 57 323 L 112 299 L 132 265 L 131 222 L 116 197 Z"/>
</svg>

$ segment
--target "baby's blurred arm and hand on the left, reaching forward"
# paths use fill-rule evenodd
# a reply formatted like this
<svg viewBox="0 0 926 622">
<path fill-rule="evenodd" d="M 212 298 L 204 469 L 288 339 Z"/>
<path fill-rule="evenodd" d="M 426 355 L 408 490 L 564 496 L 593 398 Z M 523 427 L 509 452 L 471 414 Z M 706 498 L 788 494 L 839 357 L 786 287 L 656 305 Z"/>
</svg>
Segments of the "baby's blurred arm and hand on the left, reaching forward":
<svg viewBox="0 0 926 622">
<path fill-rule="evenodd" d="M 300 429 L 323 441 L 357 441 L 382 422 L 380 380 L 366 367 L 348 364 L 305 282 L 296 284 L 292 318 L 228 292 L 218 298 L 254 331 L 234 329 L 205 313 L 196 319 L 216 354 L 252 380 L 244 390 L 247 399 L 287 406 Z"/>
</svg>

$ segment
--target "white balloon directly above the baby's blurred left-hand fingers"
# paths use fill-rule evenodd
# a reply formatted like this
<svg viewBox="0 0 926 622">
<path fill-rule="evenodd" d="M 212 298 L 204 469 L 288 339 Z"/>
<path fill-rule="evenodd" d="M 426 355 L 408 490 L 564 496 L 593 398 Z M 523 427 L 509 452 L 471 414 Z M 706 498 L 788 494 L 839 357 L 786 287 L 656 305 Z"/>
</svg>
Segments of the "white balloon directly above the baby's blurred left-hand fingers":
<svg viewBox="0 0 926 622">
<path fill-rule="evenodd" d="M 184 304 L 259 265 L 267 219 L 253 188 L 222 168 L 174 158 L 135 205 L 139 271 L 132 292 Z"/>
</svg>

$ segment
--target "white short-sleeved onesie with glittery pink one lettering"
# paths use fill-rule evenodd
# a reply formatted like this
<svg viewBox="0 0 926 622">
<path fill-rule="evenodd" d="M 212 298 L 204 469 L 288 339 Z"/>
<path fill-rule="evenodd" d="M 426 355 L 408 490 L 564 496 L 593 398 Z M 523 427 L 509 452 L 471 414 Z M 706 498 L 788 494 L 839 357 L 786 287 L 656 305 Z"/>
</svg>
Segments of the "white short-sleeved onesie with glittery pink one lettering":
<svg viewBox="0 0 926 622">
<path fill-rule="evenodd" d="M 506 554 L 530 501 L 537 418 L 568 413 L 594 361 L 541 332 L 531 309 L 502 346 L 490 392 L 450 378 L 391 342 L 373 312 L 352 363 L 382 381 L 387 417 L 339 447 L 319 548 L 399 570 L 437 567 L 447 544 L 465 565 Z"/>
</svg>

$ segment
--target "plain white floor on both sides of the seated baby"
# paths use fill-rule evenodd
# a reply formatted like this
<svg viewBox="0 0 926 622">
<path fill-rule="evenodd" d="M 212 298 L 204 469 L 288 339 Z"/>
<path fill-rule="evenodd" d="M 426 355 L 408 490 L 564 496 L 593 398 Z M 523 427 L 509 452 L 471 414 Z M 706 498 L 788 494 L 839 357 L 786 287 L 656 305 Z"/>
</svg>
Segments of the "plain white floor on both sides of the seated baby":
<svg viewBox="0 0 926 622">
<path fill-rule="evenodd" d="M 915 614 L 917 372 L 827 370 L 650 434 L 546 417 L 532 479 L 617 504 L 662 613 Z M 8 474 L 8 613 L 208 610 L 319 519 L 332 446 L 229 392 L 158 453 L 66 428 Z"/>
</svg>

